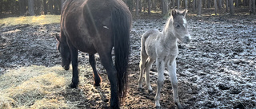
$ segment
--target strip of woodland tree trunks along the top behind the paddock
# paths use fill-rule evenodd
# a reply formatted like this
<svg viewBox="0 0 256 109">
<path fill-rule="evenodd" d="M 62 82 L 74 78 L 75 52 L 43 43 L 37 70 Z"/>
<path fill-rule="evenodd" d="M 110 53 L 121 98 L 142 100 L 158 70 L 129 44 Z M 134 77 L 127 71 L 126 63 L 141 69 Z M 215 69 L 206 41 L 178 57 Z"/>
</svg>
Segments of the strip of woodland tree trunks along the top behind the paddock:
<svg viewBox="0 0 256 109">
<path fill-rule="evenodd" d="M 256 0 L 124 0 L 136 16 L 140 14 L 161 13 L 167 15 L 170 9 L 189 9 L 190 12 L 201 16 L 202 10 L 212 9 L 210 13 L 236 14 L 255 13 Z M 10 16 L 27 16 L 42 14 L 60 14 L 65 0 L 1 0 L 0 18 Z"/>
</svg>

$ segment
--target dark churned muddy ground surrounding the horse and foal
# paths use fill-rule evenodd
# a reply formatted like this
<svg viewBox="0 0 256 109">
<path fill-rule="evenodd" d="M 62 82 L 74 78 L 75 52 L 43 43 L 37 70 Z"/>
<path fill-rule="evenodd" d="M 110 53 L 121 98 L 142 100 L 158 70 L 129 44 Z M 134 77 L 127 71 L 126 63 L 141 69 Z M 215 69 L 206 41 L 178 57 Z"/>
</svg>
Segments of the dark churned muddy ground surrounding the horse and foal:
<svg viewBox="0 0 256 109">
<path fill-rule="evenodd" d="M 186 108 L 256 108 L 256 18 L 255 16 L 188 17 L 192 35 L 189 45 L 178 44 L 178 94 Z M 157 69 L 150 72 L 153 93 L 138 91 L 140 37 L 148 29 L 162 31 L 165 18 L 134 18 L 131 30 L 129 89 L 123 108 L 154 108 Z M 54 35 L 59 24 L 0 25 L 0 76 L 8 69 L 61 64 Z M 107 108 L 110 86 L 97 56 L 102 86 L 88 91 L 86 85 L 62 93 L 78 108 Z M 93 84 L 86 53 L 79 53 L 80 75 Z M 90 69 L 90 70 L 86 70 Z M 71 73 L 71 70 L 70 70 Z M 162 108 L 175 108 L 169 76 L 162 88 Z M 84 95 L 76 95 L 83 93 Z M 82 100 L 81 100 L 82 99 Z"/>
</svg>

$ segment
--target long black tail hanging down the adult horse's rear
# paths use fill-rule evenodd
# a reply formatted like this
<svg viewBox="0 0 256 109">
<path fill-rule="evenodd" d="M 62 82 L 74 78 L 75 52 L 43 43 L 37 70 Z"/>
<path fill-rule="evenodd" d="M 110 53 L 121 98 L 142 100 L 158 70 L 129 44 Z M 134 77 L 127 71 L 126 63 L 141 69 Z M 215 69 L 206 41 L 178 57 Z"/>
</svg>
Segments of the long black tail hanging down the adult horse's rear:
<svg viewBox="0 0 256 109">
<path fill-rule="evenodd" d="M 129 10 L 114 7 L 111 17 L 111 26 L 114 41 L 114 66 L 118 72 L 118 99 L 126 96 L 128 80 L 128 56 L 130 53 L 130 25 L 131 14 Z"/>
</svg>

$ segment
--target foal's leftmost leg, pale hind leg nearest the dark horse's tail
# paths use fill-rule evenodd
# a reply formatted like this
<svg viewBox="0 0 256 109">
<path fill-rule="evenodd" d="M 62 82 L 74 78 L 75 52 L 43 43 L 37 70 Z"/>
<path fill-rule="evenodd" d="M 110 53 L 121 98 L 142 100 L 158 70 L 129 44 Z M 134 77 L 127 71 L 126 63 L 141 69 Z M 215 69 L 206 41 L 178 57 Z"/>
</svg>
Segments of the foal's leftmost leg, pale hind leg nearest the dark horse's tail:
<svg viewBox="0 0 256 109">
<path fill-rule="evenodd" d="M 138 90 L 142 90 L 142 76 L 143 76 L 143 72 L 145 70 L 145 64 L 146 64 L 146 59 L 147 59 L 147 55 L 141 53 L 141 61 L 139 63 L 139 77 L 138 77 Z"/>
</svg>

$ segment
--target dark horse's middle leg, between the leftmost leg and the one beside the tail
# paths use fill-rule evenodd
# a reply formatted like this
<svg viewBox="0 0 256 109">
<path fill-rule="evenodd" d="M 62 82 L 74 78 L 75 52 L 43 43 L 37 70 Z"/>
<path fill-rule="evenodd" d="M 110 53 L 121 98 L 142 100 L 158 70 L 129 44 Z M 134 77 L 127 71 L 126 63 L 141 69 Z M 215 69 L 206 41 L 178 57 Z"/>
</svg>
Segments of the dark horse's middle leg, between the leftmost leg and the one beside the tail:
<svg viewBox="0 0 256 109">
<path fill-rule="evenodd" d="M 93 71 L 94 71 L 94 86 L 99 86 L 100 83 L 102 82 L 102 79 L 101 79 L 101 76 L 98 75 L 98 72 L 96 70 L 94 54 L 89 54 L 89 62 L 90 62 L 90 66 L 93 68 Z"/>
</svg>

